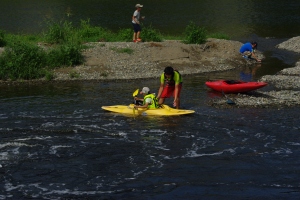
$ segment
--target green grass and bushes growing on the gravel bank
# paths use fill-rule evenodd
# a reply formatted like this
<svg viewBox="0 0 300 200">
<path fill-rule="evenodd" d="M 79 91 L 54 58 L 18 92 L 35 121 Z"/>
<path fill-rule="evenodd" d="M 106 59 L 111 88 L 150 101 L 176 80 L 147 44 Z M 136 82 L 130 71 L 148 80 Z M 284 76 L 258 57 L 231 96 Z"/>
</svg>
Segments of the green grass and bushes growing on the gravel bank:
<svg viewBox="0 0 300 200">
<path fill-rule="evenodd" d="M 53 69 L 83 63 L 82 49 L 87 42 L 131 42 L 133 30 L 116 32 L 93 26 L 90 20 L 81 20 L 78 27 L 67 20 L 45 21 L 47 28 L 40 34 L 10 34 L 0 30 L 0 80 L 54 79 Z M 163 35 L 152 25 L 143 26 L 141 38 L 144 42 L 181 40 L 188 44 L 203 44 L 208 37 L 229 39 L 224 33 L 208 34 L 203 27 L 190 22 L 182 35 Z M 118 53 L 132 54 L 130 48 L 112 48 Z M 78 78 L 71 73 L 72 78 Z M 104 74 L 103 76 L 106 76 Z"/>
</svg>

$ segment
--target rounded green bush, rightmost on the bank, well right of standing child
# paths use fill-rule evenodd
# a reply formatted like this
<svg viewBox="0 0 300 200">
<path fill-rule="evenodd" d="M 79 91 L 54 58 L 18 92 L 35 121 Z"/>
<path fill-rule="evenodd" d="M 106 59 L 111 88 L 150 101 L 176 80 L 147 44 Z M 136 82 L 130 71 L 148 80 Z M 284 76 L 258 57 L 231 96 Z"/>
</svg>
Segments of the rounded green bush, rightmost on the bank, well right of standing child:
<svg viewBox="0 0 300 200">
<path fill-rule="evenodd" d="M 184 35 L 184 42 L 187 44 L 203 44 L 207 39 L 207 30 L 196 26 L 194 22 L 190 22 L 190 24 L 185 28 Z"/>
</svg>

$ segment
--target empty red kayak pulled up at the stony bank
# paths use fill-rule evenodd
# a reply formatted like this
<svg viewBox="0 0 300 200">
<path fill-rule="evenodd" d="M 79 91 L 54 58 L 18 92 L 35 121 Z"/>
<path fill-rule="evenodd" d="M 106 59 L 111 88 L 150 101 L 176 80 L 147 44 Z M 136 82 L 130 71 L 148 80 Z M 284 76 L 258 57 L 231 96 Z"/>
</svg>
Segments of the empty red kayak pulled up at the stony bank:
<svg viewBox="0 0 300 200">
<path fill-rule="evenodd" d="M 237 80 L 207 81 L 206 86 L 224 93 L 249 92 L 267 85 L 265 82 L 244 82 Z"/>
</svg>

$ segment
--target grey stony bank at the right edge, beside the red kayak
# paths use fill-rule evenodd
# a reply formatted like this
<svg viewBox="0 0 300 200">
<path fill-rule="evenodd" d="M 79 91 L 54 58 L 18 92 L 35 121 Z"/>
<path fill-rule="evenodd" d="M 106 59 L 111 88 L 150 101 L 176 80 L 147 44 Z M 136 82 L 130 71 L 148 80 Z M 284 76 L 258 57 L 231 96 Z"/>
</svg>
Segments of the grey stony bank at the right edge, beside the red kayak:
<svg viewBox="0 0 300 200">
<path fill-rule="evenodd" d="M 291 38 L 277 46 L 300 53 L 300 37 Z M 300 61 L 292 68 L 279 71 L 276 75 L 263 76 L 259 81 L 272 85 L 274 90 L 249 92 L 227 96 L 237 107 L 293 107 L 300 105 Z M 210 105 L 224 107 L 227 99 L 214 100 Z M 228 106 L 228 105 L 227 105 Z"/>
</svg>

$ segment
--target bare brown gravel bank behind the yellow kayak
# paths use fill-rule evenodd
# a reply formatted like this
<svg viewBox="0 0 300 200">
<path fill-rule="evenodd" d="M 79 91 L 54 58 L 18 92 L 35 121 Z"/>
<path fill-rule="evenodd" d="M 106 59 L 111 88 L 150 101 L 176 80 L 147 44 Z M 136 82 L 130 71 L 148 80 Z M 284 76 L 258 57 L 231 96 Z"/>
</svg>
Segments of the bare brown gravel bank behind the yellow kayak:
<svg viewBox="0 0 300 200">
<path fill-rule="evenodd" d="M 166 66 L 181 74 L 224 71 L 245 64 L 238 55 L 240 42 L 209 39 L 205 44 L 163 42 L 97 42 L 89 43 L 83 52 L 81 66 L 57 69 L 55 80 L 124 80 L 159 77 Z"/>
</svg>

